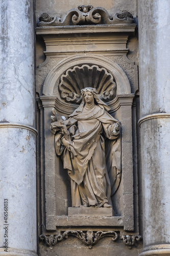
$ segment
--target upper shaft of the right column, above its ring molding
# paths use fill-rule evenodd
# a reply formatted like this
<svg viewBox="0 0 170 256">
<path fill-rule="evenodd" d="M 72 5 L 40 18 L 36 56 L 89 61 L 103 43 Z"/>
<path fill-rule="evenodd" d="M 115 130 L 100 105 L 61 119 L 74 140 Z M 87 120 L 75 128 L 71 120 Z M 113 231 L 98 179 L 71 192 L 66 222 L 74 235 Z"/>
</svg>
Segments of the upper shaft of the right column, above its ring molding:
<svg viewBox="0 0 170 256">
<path fill-rule="evenodd" d="M 141 117 L 170 109 L 169 10 L 166 0 L 139 1 Z"/>
</svg>

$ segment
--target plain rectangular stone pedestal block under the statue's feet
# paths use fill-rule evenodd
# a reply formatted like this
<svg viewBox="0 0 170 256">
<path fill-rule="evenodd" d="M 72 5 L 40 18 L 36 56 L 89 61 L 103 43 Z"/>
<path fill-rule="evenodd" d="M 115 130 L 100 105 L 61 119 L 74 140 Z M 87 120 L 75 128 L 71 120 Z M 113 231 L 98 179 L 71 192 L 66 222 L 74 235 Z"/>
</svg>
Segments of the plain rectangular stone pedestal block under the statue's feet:
<svg viewBox="0 0 170 256">
<path fill-rule="evenodd" d="M 68 207 L 68 216 L 114 216 L 113 208 L 105 207 Z"/>
</svg>

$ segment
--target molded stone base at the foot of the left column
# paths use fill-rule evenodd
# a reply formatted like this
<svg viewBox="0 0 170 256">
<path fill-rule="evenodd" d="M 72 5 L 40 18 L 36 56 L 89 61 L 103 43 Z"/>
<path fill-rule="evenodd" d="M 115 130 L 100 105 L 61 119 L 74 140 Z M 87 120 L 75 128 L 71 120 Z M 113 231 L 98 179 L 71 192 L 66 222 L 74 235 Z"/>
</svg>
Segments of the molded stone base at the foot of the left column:
<svg viewBox="0 0 170 256">
<path fill-rule="evenodd" d="M 7 251 L 5 248 L 0 248 L 1 256 L 38 256 L 35 251 L 25 250 L 25 249 L 16 249 L 8 247 Z"/>
</svg>

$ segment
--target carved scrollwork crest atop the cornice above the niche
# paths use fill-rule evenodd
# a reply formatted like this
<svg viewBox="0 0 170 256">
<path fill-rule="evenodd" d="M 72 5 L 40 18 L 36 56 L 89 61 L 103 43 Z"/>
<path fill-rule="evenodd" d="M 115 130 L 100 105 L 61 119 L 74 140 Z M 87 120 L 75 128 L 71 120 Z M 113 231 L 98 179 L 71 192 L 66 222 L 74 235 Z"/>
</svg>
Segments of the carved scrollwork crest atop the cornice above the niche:
<svg viewBox="0 0 170 256">
<path fill-rule="evenodd" d="M 134 23 L 133 15 L 129 12 L 124 12 L 110 16 L 102 7 L 94 8 L 92 5 L 80 5 L 77 9 L 69 10 L 62 19 L 42 13 L 37 26 L 114 25 L 121 23 Z"/>
</svg>

